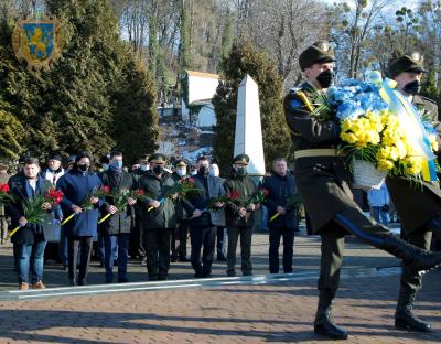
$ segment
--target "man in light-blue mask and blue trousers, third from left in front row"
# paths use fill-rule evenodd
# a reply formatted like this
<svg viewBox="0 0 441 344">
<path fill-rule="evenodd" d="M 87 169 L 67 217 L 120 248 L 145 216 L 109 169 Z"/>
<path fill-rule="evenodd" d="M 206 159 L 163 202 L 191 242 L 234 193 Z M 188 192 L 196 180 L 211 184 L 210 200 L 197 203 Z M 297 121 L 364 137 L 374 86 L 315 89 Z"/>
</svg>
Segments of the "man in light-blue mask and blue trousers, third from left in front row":
<svg viewBox="0 0 441 344">
<path fill-rule="evenodd" d="M 135 190 L 133 176 L 122 170 L 122 153 L 115 151 L 110 154 L 109 169 L 99 174 L 103 185 L 109 186 L 111 193 L 128 193 Z M 106 202 L 116 206 L 115 197 L 106 196 Z M 129 259 L 129 238 L 131 216 L 136 200 L 128 197 L 128 204 L 123 209 L 107 218 L 100 226 L 104 238 L 106 268 L 106 283 L 114 281 L 114 261 L 118 250 L 118 283 L 128 282 L 127 262 Z M 107 213 L 101 213 L 101 218 Z"/>
</svg>

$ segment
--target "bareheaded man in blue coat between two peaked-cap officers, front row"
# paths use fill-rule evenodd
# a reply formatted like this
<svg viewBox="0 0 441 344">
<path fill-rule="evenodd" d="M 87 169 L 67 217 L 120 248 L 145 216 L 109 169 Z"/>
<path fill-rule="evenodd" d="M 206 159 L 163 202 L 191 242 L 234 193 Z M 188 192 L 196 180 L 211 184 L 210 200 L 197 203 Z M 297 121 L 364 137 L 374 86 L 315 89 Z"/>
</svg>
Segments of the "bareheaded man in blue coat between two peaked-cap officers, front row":
<svg viewBox="0 0 441 344">
<path fill-rule="evenodd" d="M 209 161 L 206 157 L 197 158 L 197 174 L 193 176 L 194 185 L 201 190 L 184 200 L 183 205 L 192 218 L 190 221 L 190 239 L 192 244 L 191 261 L 194 277 L 206 278 L 212 275 L 212 265 L 216 241 L 216 226 L 225 226 L 223 202 L 216 202 L 214 209 L 207 209 L 208 202 L 222 196 L 225 191 L 219 178 L 209 174 Z M 201 249 L 203 249 L 201 259 Z"/>
</svg>

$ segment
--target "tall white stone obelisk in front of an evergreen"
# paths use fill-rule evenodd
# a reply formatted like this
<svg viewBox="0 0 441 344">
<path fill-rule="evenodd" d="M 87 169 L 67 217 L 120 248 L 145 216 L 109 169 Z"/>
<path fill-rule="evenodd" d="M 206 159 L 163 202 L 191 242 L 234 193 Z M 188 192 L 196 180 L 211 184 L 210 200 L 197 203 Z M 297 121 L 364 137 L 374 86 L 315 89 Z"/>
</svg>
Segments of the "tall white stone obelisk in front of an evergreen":
<svg viewBox="0 0 441 344">
<path fill-rule="evenodd" d="M 260 122 L 259 88 L 246 75 L 237 94 L 237 116 L 234 157 L 247 154 L 249 175 L 265 175 L 263 140 Z"/>
</svg>

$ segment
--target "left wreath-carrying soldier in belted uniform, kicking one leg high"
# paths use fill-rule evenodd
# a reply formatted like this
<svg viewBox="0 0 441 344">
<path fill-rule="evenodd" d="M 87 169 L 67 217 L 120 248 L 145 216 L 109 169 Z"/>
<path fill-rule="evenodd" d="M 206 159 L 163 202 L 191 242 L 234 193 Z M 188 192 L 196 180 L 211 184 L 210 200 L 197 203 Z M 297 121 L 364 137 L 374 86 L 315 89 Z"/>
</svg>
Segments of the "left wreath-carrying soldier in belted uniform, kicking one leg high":
<svg viewBox="0 0 441 344">
<path fill-rule="evenodd" d="M 299 56 L 306 82 L 291 89 L 283 101 L 286 119 L 295 150 L 295 176 L 299 194 L 312 229 L 322 237 L 322 262 L 319 278 L 319 307 L 314 332 L 332 338 L 347 338 L 331 318 L 332 301 L 338 288 L 344 237 L 354 234 L 364 241 L 401 258 L 413 271 L 440 265 L 441 255 L 409 245 L 386 227 L 365 216 L 354 202 L 351 176 L 337 155 L 340 123 L 322 120 L 312 112 L 316 93 L 324 93 L 333 80 L 334 54 L 329 42 L 320 41 Z"/>
</svg>

